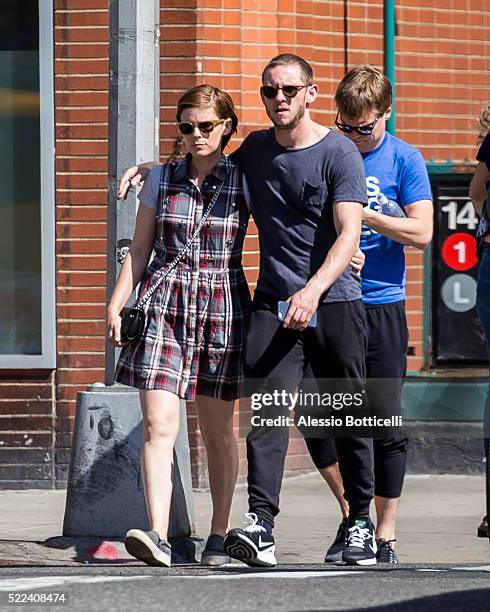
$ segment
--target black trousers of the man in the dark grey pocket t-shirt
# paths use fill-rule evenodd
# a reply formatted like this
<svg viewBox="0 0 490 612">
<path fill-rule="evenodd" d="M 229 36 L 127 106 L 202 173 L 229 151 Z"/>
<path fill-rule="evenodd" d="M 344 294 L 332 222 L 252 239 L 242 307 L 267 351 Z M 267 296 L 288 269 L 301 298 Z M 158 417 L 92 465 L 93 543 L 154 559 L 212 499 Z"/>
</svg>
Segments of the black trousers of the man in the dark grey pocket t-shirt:
<svg viewBox="0 0 490 612">
<path fill-rule="evenodd" d="M 367 348 L 361 300 L 322 304 L 316 328 L 284 329 L 277 319 L 277 298 L 255 292 L 247 335 L 245 370 L 249 379 L 274 381 L 294 391 L 306 372 L 317 379 L 345 379 L 346 387 L 362 388 Z M 247 436 L 250 512 L 272 525 L 289 441 L 288 427 L 258 427 Z M 336 440 L 345 497 L 352 515 L 367 516 L 373 497 L 372 441 Z"/>
</svg>

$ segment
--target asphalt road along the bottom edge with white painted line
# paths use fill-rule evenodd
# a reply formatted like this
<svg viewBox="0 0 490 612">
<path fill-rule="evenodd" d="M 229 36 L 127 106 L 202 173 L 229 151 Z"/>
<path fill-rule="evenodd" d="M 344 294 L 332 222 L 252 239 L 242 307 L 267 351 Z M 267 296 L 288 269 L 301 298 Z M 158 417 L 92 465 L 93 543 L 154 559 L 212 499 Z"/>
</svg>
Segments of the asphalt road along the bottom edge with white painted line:
<svg viewBox="0 0 490 612">
<path fill-rule="evenodd" d="M 0 610 L 395 610 L 490 609 L 490 565 L 326 568 L 286 565 L 255 570 L 195 566 L 0 568 Z M 8 596 L 63 593 L 65 603 L 8 604 Z"/>
</svg>

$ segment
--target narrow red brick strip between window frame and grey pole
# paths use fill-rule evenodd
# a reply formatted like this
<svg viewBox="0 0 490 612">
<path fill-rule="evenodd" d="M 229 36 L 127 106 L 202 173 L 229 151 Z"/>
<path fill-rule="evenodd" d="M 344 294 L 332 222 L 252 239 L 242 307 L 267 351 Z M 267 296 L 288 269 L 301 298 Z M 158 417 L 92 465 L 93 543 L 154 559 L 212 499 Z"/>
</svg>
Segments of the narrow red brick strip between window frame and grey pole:
<svg viewBox="0 0 490 612">
<path fill-rule="evenodd" d="M 66 480 L 77 391 L 104 380 L 107 0 L 56 0 L 56 477 Z"/>
</svg>

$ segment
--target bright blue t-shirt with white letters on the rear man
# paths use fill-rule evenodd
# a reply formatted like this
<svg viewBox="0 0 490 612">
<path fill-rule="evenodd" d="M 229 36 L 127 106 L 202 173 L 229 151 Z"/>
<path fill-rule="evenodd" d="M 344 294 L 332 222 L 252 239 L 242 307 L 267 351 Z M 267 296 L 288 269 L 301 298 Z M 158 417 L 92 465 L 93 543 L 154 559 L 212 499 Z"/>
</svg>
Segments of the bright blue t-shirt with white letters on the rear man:
<svg viewBox="0 0 490 612">
<path fill-rule="evenodd" d="M 368 206 L 391 200 L 402 209 L 419 200 L 432 200 L 424 159 L 411 145 L 386 133 L 381 145 L 363 153 Z M 384 198 L 383 198 L 384 196 Z M 362 299 L 365 304 L 390 304 L 405 299 L 405 253 L 403 245 L 363 226 L 361 250 Z"/>
</svg>

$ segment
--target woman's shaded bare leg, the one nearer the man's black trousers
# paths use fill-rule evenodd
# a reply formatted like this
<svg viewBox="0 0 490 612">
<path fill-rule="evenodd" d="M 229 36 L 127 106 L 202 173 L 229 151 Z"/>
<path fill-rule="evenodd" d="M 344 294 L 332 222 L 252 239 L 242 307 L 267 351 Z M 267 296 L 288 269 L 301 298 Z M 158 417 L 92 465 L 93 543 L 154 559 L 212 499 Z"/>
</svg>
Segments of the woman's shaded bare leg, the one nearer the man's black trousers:
<svg viewBox="0 0 490 612">
<path fill-rule="evenodd" d="M 233 433 L 234 402 L 200 395 L 196 398 L 196 407 L 208 455 L 209 487 L 213 500 L 211 533 L 225 535 L 238 475 L 238 446 Z"/>
</svg>

